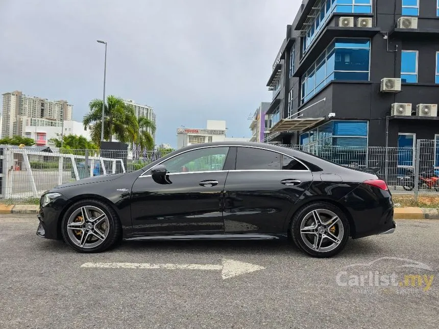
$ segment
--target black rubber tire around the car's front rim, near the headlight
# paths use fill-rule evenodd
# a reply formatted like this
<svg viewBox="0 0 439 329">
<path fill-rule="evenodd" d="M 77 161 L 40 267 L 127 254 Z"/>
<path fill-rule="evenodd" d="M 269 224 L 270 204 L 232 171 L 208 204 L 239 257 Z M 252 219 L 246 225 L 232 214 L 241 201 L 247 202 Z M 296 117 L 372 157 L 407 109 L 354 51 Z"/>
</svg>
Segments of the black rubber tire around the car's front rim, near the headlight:
<svg viewBox="0 0 439 329">
<path fill-rule="evenodd" d="M 83 207 L 89 207 L 89 208 L 83 208 Z M 103 224 L 101 224 L 101 229 L 102 229 L 102 225 L 105 224 L 105 230 L 104 233 L 102 233 L 102 237 L 105 236 L 105 238 L 103 239 L 97 239 L 96 238 L 96 233 L 93 234 L 89 234 L 89 237 L 85 236 L 85 241 L 90 241 L 90 243 L 85 243 L 84 246 L 80 246 L 78 244 L 78 242 L 81 242 L 81 237 L 82 235 L 85 234 L 85 232 L 87 229 L 85 228 L 86 223 L 83 224 L 83 226 L 78 226 L 78 230 L 72 230 L 72 229 L 67 229 L 67 225 L 69 223 L 69 218 L 72 217 L 74 218 L 75 216 L 79 215 L 79 213 L 81 212 L 81 209 L 86 209 L 86 212 L 88 214 L 97 214 L 97 210 L 100 210 L 102 212 L 102 214 L 99 217 L 102 217 L 104 214 L 106 216 L 106 218 L 108 219 L 105 220 L 102 219 L 103 221 L 105 221 Z M 95 211 L 96 210 L 96 211 Z M 83 217 L 83 216 L 79 216 L 79 217 Z M 77 217 L 77 218 L 79 218 Z M 97 217 L 96 217 L 97 218 Z M 90 219 L 92 220 L 93 217 L 90 217 Z M 77 223 L 70 223 L 71 224 L 75 224 L 75 225 L 80 225 L 81 222 L 77 222 Z M 96 229 L 96 227 L 94 227 L 94 229 Z M 69 234 L 69 231 L 70 232 Z M 82 231 L 82 233 L 80 233 L 80 231 Z M 93 231 L 93 229 L 91 229 L 90 231 Z M 91 253 L 91 252 L 101 252 L 101 251 L 105 251 L 108 250 L 109 248 L 113 247 L 117 241 L 120 240 L 121 234 L 122 234 L 122 227 L 120 224 L 120 220 L 117 217 L 116 212 L 106 203 L 100 201 L 100 200 L 93 200 L 93 199 L 85 199 L 85 200 L 81 200 L 78 201 L 77 203 L 73 204 L 65 213 L 63 219 L 62 219 L 62 223 L 61 223 L 61 232 L 62 232 L 62 237 L 64 239 L 64 241 L 72 248 L 74 248 L 75 250 L 79 251 L 79 252 L 84 252 L 84 253 Z M 106 235 L 105 235 L 106 234 Z M 78 237 L 77 237 L 78 235 Z M 93 239 L 95 239 L 96 242 L 93 243 Z M 97 244 L 99 242 L 99 244 Z M 93 244 L 97 244 L 97 245 L 93 245 Z"/>
</svg>

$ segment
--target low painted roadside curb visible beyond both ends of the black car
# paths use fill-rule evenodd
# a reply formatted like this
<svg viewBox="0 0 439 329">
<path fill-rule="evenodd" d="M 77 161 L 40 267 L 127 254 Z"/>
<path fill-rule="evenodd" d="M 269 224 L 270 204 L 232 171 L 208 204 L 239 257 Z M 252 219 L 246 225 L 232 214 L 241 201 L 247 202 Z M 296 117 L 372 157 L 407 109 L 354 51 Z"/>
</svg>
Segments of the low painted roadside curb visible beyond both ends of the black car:
<svg viewBox="0 0 439 329">
<path fill-rule="evenodd" d="M 0 214 L 37 214 L 38 205 L 2 205 Z M 395 208 L 394 219 L 435 219 L 439 220 L 439 209 L 434 208 Z"/>
</svg>

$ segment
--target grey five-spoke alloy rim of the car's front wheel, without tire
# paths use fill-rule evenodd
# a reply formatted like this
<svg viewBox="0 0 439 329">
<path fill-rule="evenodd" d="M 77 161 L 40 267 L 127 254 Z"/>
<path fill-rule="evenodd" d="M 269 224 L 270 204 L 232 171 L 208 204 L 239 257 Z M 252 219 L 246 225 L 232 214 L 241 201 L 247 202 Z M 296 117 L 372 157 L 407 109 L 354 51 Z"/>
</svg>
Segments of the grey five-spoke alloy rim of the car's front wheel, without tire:
<svg viewBox="0 0 439 329">
<path fill-rule="evenodd" d="M 94 206 L 83 206 L 71 213 L 67 220 L 67 234 L 80 248 L 90 249 L 101 245 L 110 231 L 105 212 Z"/>
</svg>

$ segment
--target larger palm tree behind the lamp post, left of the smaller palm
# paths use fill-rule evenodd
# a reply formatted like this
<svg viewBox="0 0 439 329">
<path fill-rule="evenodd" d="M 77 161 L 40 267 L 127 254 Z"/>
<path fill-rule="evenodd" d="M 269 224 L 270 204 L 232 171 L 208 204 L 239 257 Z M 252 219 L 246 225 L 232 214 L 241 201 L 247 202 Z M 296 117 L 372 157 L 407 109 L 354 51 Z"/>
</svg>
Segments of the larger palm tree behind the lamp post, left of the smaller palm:
<svg viewBox="0 0 439 329">
<path fill-rule="evenodd" d="M 96 145 L 101 145 L 102 127 L 102 99 L 93 99 L 89 104 L 88 112 L 82 123 L 84 129 L 91 126 L 91 140 Z M 134 115 L 131 105 L 124 103 L 124 100 L 113 95 L 107 97 L 104 112 L 104 140 L 112 141 L 113 136 L 123 143 L 137 140 L 139 124 Z"/>
</svg>

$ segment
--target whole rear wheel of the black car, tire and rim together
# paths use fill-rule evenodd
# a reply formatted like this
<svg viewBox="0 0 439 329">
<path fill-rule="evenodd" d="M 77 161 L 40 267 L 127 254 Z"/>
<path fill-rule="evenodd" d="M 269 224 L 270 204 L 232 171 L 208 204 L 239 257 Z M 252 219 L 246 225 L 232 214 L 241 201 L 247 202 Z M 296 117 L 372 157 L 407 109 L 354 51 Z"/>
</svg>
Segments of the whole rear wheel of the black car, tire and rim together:
<svg viewBox="0 0 439 329">
<path fill-rule="evenodd" d="M 345 213 L 325 202 L 301 208 L 291 221 L 293 241 L 314 257 L 326 258 L 338 254 L 345 247 L 349 232 Z"/>
</svg>

